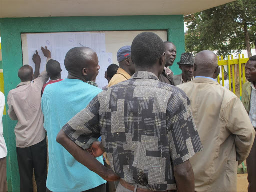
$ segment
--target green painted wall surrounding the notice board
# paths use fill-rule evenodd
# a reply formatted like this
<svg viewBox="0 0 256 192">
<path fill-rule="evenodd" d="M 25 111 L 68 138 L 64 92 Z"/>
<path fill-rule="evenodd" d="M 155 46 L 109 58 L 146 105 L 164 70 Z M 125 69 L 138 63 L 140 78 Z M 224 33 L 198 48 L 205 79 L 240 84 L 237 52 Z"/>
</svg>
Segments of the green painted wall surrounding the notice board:
<svg viewBox="0 0 256 192">
<path fill-rule="evenodd" d="M 172 70 L 175 74 L 179 74 L 180 70 L 176 62 L 179 61 L 185 47 L 183 15 L 1 18 L 0 31 L 5 97 L 20 82 L 17 72 L 23 64 L 21 33 L 163 29 L 168 31 L 168 41 L 172 41 L 176 45 L 177 59 Z M 8 109 L 8 106 L 6 109 Z M 4 130 L 7 131 L 4 134 L 7 137 L 8 147 L 8 191 L 19 191 L 19 172 L 14 134 L 16 123 L 8 115 L 3 122 Z"/>
</svg>

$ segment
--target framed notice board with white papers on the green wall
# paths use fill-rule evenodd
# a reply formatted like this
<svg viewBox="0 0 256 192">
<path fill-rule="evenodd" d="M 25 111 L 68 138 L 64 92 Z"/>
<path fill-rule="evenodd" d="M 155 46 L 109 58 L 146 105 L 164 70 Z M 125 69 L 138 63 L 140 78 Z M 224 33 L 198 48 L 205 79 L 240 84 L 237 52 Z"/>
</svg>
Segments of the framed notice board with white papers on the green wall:
<svg viewBox="0 0 256 192">
<path fill-rule="evenodd" d="M 28 64 L 33 67 L 32 55 L 35 50 L 41 57 L 40 72 L 45 69 L 46 58 L 43 56 L 41 46 L 51 51 L 51 57 L 57 60 L 61 65 L 62 79 L 67 77 L 67 71 L 64 66 L 65 55 L 73 47 L 87 46 L 92 48 L 98 55 L 99 74 L 96 83 L 99 88 L 107 85 L 104 73 L 107 67 L 115 63 L 118 65 L 116 54 L 119 48 L 125 45 L 131 45 L 133 39 L 144 31 L 97 31 L 97 32 L 54 32 L 54 33 L 22 33 L 22 54 L 23 65 Z M 166 30 L 152 30 L 163 41 L 167 41 Z"/>
</svg>

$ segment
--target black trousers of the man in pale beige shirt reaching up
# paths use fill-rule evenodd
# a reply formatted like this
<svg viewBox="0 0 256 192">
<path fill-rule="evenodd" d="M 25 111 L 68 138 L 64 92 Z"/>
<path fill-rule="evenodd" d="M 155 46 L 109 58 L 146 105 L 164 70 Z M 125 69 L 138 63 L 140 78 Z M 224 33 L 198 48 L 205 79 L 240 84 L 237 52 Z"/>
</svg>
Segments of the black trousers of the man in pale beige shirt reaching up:
<svg viewBox="0 0 256 192">
<path fill-rule="evenodd" d="M 38 192 L 46 191 L 47 144 L 43 141 L 29 147 L 17 147 L 20 192 L 33 192 L 33 171 Z"/>
</svg>

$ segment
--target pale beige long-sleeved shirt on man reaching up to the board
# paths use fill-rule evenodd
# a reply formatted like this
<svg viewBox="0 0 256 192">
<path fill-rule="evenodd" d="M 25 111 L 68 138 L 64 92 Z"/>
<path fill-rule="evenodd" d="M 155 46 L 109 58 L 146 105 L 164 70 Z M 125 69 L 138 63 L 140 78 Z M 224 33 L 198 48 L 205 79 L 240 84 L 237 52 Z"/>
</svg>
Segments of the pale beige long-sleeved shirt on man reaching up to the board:
<svg viewBox="0 0 256 192">
<path fill-rule="evenodd" d="M 18 120 L 15 127 L 17 147 L 29 147 L 45 138 L 41 91 L 48 79 L 49 76 L 44 71 L 33 82 L 21 82 L 9 91 L 8 114 L 12 120 Z"/>
</svg>

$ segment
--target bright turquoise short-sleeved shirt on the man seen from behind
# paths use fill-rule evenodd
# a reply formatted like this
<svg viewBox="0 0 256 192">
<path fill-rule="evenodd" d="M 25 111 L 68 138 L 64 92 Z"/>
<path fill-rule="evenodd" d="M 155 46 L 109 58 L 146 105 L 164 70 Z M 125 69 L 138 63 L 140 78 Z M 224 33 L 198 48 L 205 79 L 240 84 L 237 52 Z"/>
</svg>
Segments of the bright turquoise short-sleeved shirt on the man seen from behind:
<svg viewBox="0 0 256 192">
<path fill-rule="evenodd" d="M 81 80 L 68 78 L 45 88 L 42 111 L 48 136 L 49 169 L 46 186 L 49 190 L 80 192 L 106 183 L 56 142 L 61 128 L 101 91 Z M 103 164 L 102 157 L 97 160 Z"/>
</svg>

